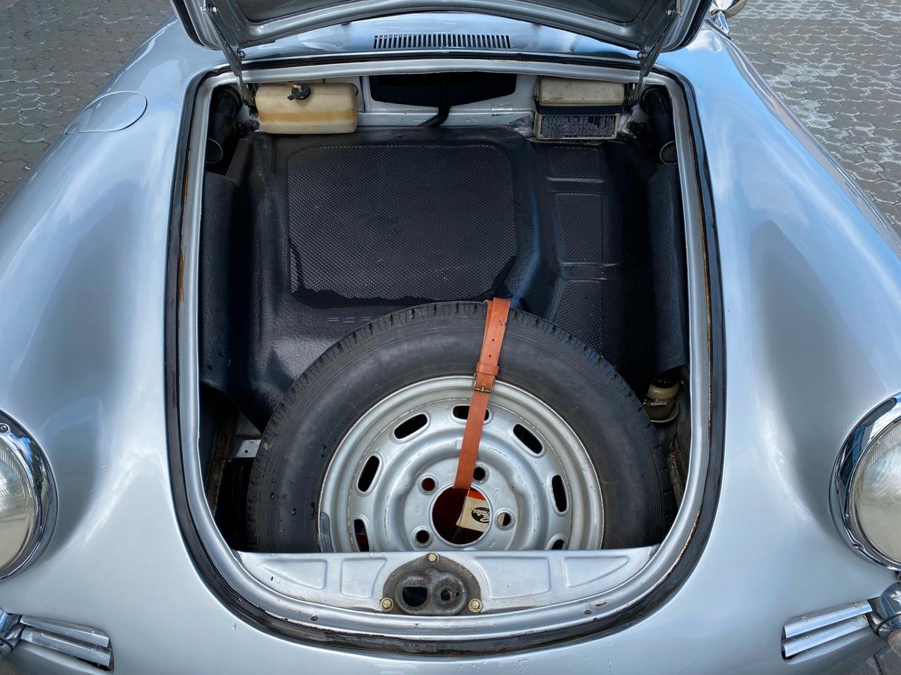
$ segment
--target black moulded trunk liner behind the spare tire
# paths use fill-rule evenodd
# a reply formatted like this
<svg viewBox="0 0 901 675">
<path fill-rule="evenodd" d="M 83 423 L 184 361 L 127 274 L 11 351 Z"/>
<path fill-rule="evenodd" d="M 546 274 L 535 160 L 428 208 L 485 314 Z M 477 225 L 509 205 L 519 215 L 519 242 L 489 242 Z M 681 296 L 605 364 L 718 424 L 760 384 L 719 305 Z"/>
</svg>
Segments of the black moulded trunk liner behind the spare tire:
<svg viewBox="0 0 901 675">
<path fill-rule="evenodd" d="M 622 143 L 494 127 L 250 134 L 205 183 L 202 381 L 262 428 L 369 320 L 500 294 L 643 393 L 685 363 L 679 208 L 677 167 Z"/>
</svg>

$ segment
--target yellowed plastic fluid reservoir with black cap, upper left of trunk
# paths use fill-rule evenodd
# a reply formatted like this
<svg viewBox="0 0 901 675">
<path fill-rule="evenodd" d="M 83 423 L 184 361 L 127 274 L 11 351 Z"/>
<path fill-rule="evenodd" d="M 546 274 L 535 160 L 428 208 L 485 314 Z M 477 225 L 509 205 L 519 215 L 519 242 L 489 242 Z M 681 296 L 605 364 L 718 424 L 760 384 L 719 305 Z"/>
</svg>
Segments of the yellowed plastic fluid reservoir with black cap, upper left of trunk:
<svg viewBox="0 0 901 675">
<path fill-rule="evenodd" d="M 259 85 L 259 128 L 268 133 L 351 133 L 357 129 L 357 88 L 347 82 Z"/>
</svg>

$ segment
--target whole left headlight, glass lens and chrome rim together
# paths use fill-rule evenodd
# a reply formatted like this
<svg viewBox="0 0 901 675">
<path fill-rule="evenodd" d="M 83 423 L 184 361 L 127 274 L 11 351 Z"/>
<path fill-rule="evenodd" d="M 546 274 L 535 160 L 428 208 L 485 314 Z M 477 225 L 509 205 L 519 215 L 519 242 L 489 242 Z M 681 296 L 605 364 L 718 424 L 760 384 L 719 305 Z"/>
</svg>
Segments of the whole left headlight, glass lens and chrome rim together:
<svg viewBox="0 0 901 675">
<path fill-rule="evenodd" d="M 50 538 L 56 495 L 41 449 L 0 420 L 0 579 L 30 563 Z"/>
</svg>

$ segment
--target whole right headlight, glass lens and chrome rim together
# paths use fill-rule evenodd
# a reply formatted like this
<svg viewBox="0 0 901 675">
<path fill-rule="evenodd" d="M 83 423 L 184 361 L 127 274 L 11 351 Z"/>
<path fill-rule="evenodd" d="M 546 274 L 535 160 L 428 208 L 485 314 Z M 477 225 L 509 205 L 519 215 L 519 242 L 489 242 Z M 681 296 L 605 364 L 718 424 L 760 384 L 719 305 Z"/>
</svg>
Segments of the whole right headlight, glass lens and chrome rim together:
<svg viewBox="0 0 901 675">
<path fill-rule="evenodd" d="M 833 475 L 833 516 L 874 563 L 901 570 L 901 394 L 860 422 Z"/>
</svg>

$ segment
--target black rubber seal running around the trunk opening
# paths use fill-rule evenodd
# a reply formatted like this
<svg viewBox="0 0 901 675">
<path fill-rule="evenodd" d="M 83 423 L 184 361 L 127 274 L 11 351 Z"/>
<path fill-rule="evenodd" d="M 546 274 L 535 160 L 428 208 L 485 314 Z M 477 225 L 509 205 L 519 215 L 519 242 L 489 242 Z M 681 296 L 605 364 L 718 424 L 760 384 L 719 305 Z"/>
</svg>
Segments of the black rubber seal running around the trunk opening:
<svg viewBox="0 0 901 675">
<path fill-rule="evenodd" d="M 405 55 L 407 56 L 407 55 Z M 384 54 L 374 56 L 383 59 Z M 530 55 L 531 60 L 542 60 Z M 326 59 L 327 60 L 327 59 Z M 357 58 L 356 60 L 361 60 Z M 551 62 L 558 58 L 546 58 Z M 596 66 L 595 60 L 568 58 L 568 62 Z M 284 65 L 279 64 L 279 65 Z M 609 65 L 609 64 L 607 64 Z M 181 236 L 185 191 L 187 189 L 187 157 L 188 137 L 191 119 L 194 115 L 194 100 L 197 87 L 208 76 L 228 72 L 227 68 L 217 72 L 197 76 L 186 88 L 186 101 L 182 113 L 182 127 L 179 132 L 176 166 L 174 171 L 172 205 L 167 256 L 167 290 L 165 316 L 165 378 L 166 378 L 166 425 L 168 435 L 169 476 L 172 483 L 172 497 L 175 512 L 184 538 L 187 551 L 193 559 L 197 572 L 205 580 L 207 587 L 242 621 L 269 633 L 295 639 L 304 643 L 317 644 L 338 651 L 378 651 L 398 654 L 415 654 L 431 656 L 485 656 L 496 653 L 524 652 L 543 649 L 553 645 L 571 644 L 596 640 L 605 635 L 612 635 L 633 626 L 642 618 L 651 614 L 676 592 L 704 552 L 707 538 L 714 521 L 714 514 L 719 500 L 720 483 L 724 455 L 725 432 L 725 342 L 724 311 L 720 276 L 719 249 L 716 245 L 716 228 L 714 218 L 714 202 L 707 167 L 704 140 L 696 133 L 699 118 L 694 90 L 683 78 L 673 73 L 665 73 L 678 83 L 686 98 L 686 109 L 689 117 L 689 132 L 694 142 L 695 166 L 699 197 L 701 200 L 700 216 L 703 220 L 702 232 L 705 242 L 706 290 L 708 295 L 708 311 L 710 311 L 710 334 L 708 335 L 708 356 L 710 358 L 710 419 L 709 424 L 709 463 L 705 479 L 704 497 L 701 510 L 695 524 L 695 532 L 682 552 L 680 561 L 660 585 L 645 598 L 630 608 L 612 617 L 597 619 L 595 622 L 563 628 L 552 633 L 536 632 L 507 638 L 473 640 L 466 643 L 460 641 L 422 642 L 380 637 L 378 635 L 347 635 L 338 631 L 315 630 L 298 626 L 280 618 L 272 617 L 241 597 L 218 571 L 205 550 L 203 540 L 191 516 L 187 500 L 187 484 L 182 465 L 182 446 L 180 438 L 180 416 L 178 401 L 178 353 L 177 353 L 177 316 L 180 301 L 180 276 L 183 270 L 181 260 Z"/>
</svg>

